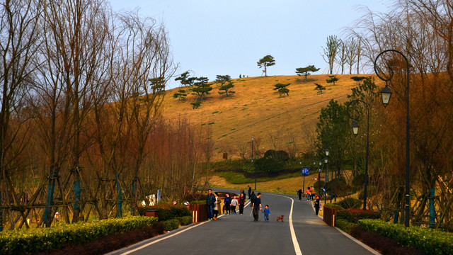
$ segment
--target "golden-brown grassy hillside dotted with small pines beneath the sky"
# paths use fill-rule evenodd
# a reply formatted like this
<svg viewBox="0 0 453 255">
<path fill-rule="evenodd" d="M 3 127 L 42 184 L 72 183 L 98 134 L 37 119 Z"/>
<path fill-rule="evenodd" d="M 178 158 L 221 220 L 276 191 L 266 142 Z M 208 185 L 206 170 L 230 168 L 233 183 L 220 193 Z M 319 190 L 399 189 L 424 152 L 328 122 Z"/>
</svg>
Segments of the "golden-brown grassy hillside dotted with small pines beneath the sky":
<svg viewBox="0 0 453 255">
<path fill-rule="evenodd" d="M 236 94 L 221 97 L 219 84 L 214 84 L 211 94 L 195 110 L 190 106 L 190 102 L 195 101 L 194 95 L 188 95 L 185 102 L 178 102 L 173 98 L 178 89 L 171 89 L 164 100 L 164 117 L 168 120 L 187 118 L 205 133 L 210 128 L 214 160 L 221 159 L 223 152 L 230 158 L 239 157 L 239 147 L 250 146 L 252 136 L 261 140 L 263 150 L 286 149 L 290 138 L 294 137 L 292 144 L 297 146 L 297 152 L 305 152 L 311 144 L 307 136 L 316 128 L 321 108 L 332 98 L 339 102 L 347 100 L 350 90 L 357 86 L 357 82 L 350 79 L 352 76 L 357 74 L 338 75 L 335 86 L 326 83 L 327 74 L 311 75 L 307 80 L 297 75 L 233 79 L 231 90 Z M 326 86 L 323 94 L 314 90 L 315 82 Z M 273 90 L 277 83 L 291 84 L 287 87 L 289 96 L 280 97 Z M 277 145 L 271 143 L 271 135 L 277 137 L 273 139 Z"/>
</svg>

